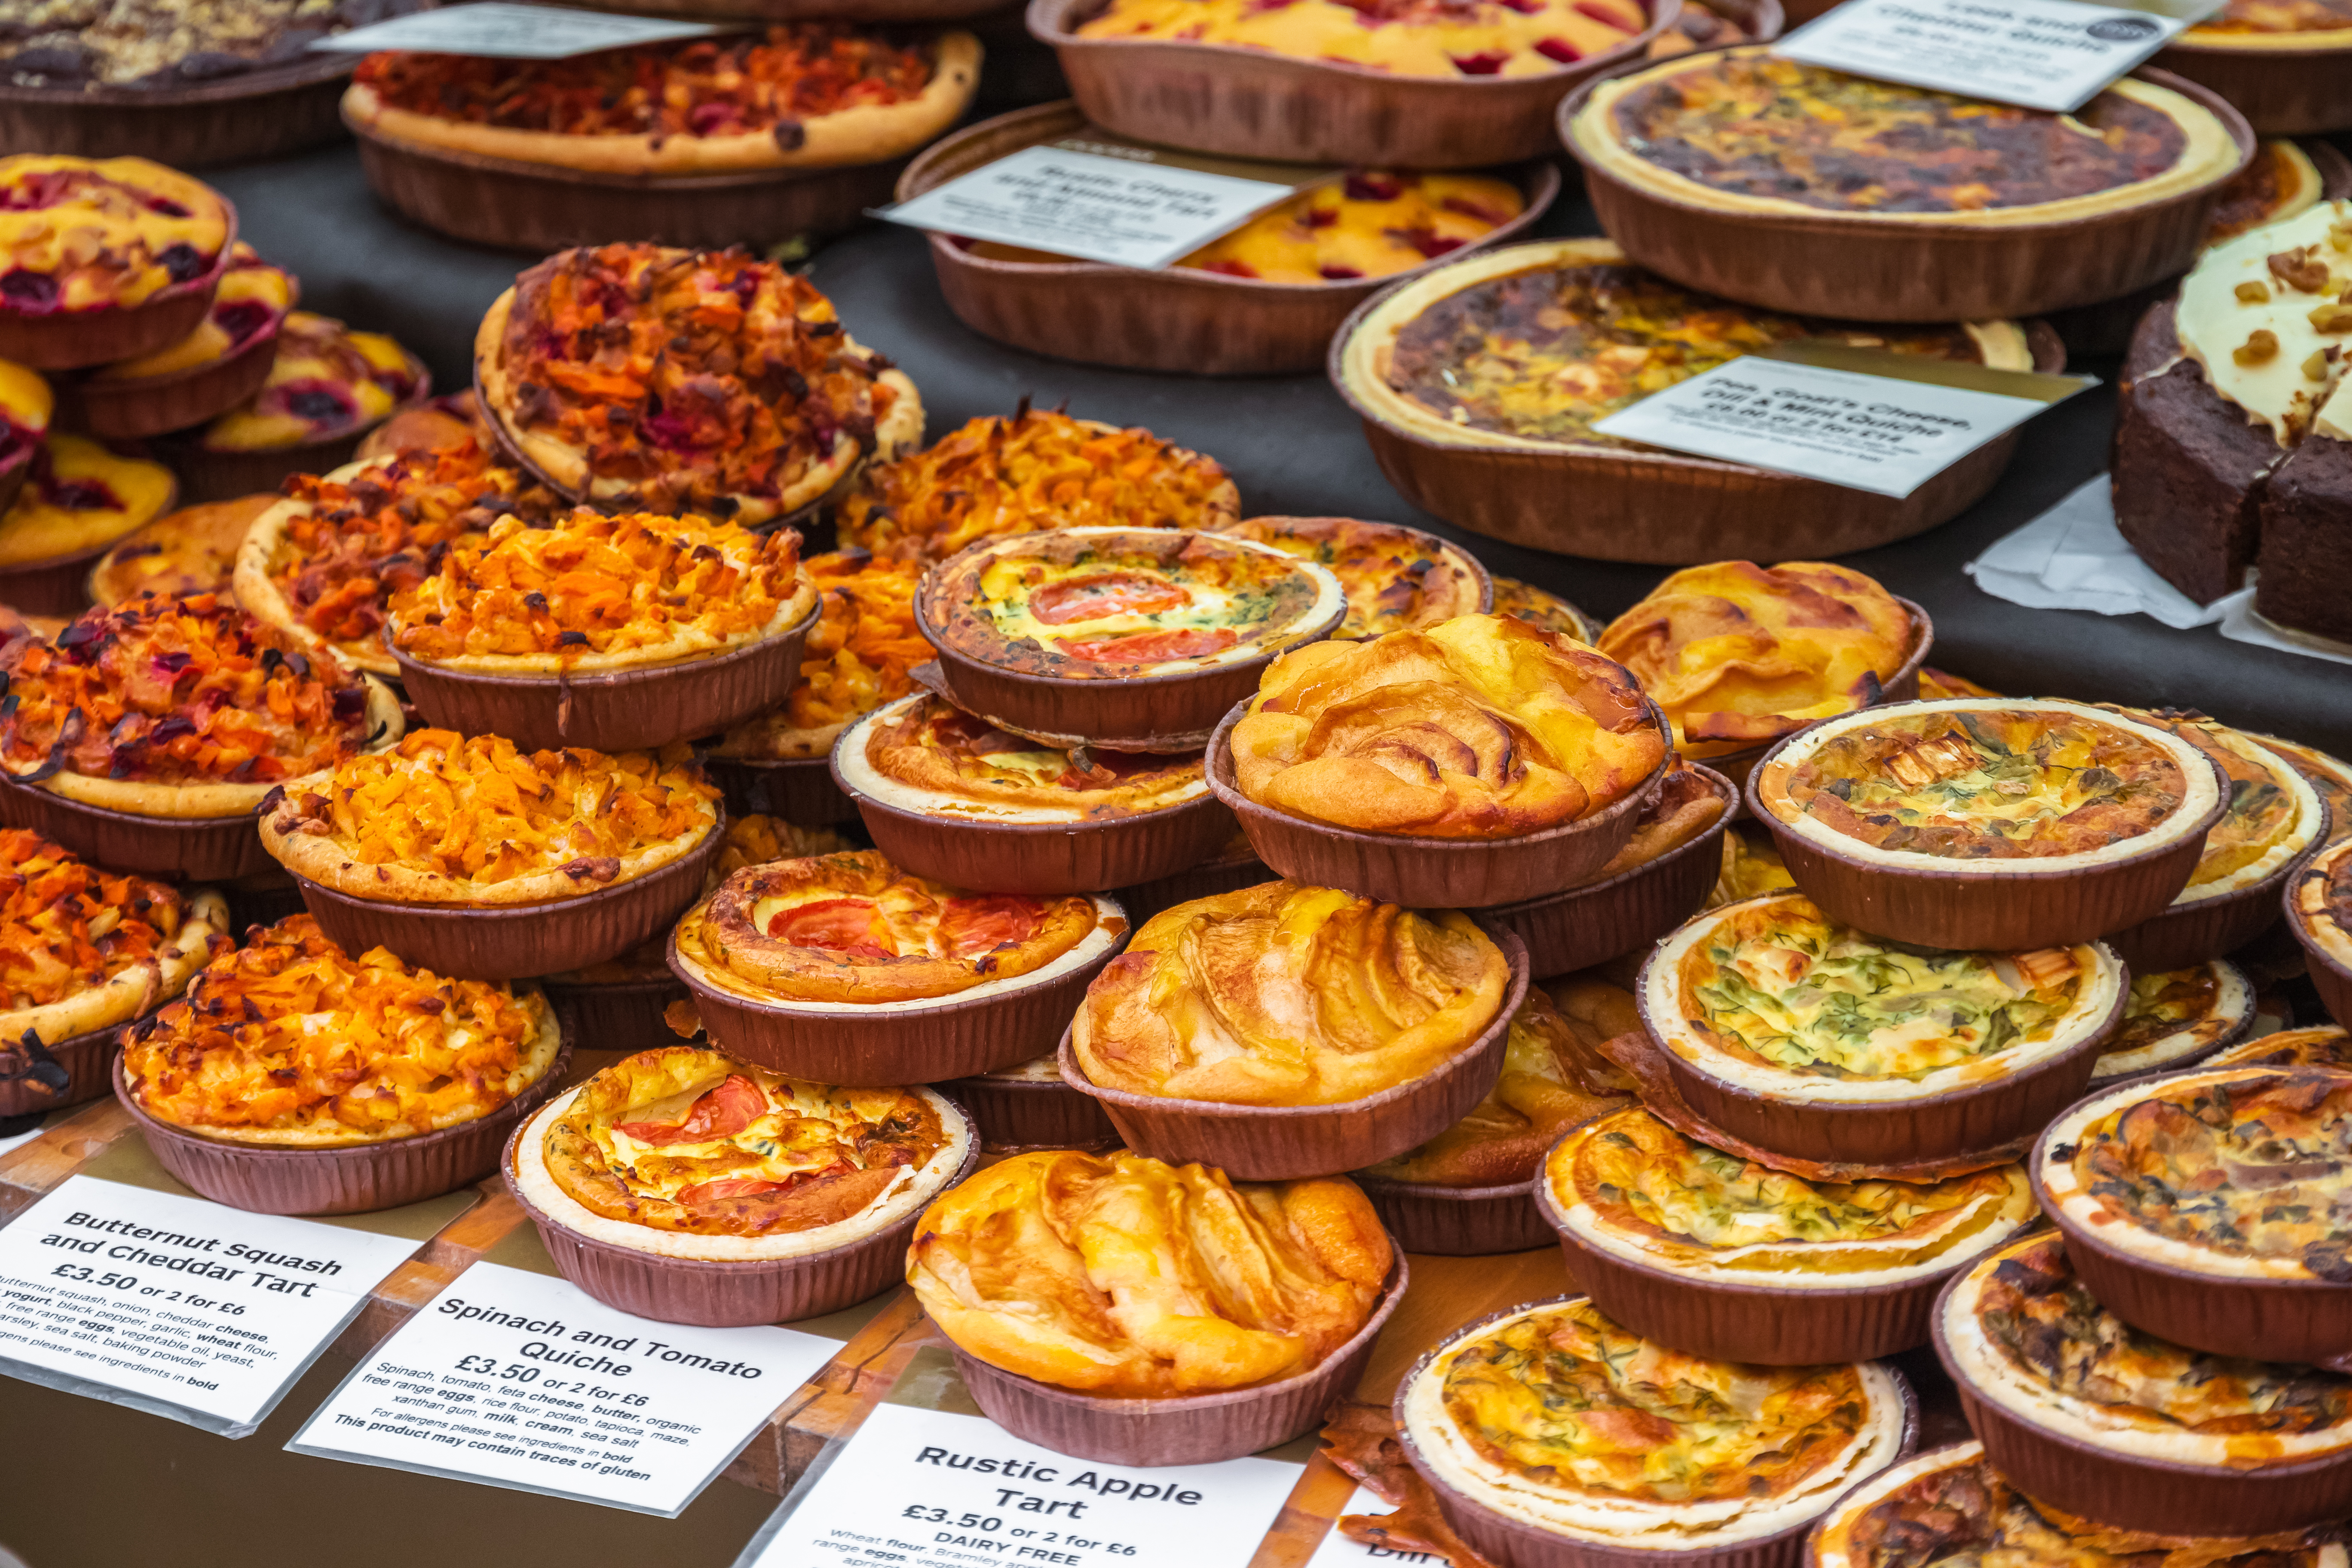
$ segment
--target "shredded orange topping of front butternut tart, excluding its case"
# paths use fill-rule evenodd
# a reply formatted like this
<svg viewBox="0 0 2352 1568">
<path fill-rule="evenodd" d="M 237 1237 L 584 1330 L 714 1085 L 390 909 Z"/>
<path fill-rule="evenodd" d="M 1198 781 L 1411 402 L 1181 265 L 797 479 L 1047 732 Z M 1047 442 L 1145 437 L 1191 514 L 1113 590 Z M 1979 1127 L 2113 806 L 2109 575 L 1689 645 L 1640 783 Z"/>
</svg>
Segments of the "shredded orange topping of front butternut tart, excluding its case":
<svg viewBox="0 0 2352 1568">
<path fill-rule="evenodd" d="M 139 1110 L 176 1128 L 325 1150 L 487 1117 L 546 1077 L 560 1048 L 539 992 L 447 980 L 383 947 L 350 957 L 292 914 L 132 1025 L 122 1079 Z"/>
</svg>

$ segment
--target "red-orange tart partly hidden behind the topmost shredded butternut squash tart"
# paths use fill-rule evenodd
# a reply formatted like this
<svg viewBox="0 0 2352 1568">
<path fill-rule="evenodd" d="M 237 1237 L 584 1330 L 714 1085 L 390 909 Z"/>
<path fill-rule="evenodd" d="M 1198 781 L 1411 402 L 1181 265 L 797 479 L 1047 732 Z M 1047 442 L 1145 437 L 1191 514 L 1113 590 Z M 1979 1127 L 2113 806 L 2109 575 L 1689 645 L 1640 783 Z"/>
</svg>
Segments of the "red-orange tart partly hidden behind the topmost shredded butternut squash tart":
<svg viewBox="0 0 2352 1568">
<path fill-rule="evenodd" d="M 459 538 L 555 510 L 548 487 L 470 440 L 296 475 L 235 550 L 238 604 L 362 670 L 400 675 L 383 646 L 393 592 L 433 576 Z"/>
</svg>

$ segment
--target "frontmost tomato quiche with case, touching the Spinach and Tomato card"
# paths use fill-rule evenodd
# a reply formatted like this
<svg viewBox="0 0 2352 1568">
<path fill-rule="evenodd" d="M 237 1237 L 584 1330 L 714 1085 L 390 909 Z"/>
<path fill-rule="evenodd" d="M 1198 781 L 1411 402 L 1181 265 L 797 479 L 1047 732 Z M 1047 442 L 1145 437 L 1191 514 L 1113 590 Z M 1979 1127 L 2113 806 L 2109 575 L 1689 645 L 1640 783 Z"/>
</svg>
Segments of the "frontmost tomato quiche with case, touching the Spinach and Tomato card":
<svg viewBox="0 0 2352 1568">
<path fill-rule="evenodd" d="M 640 1051 L 515 1131 L 506 1185 L 607 1307 L 729 1328 L 896 1284 L 924 1204 L 978 1157 L 929 1088 L 837 1088 L 722 1051 Z"/>
</svg>

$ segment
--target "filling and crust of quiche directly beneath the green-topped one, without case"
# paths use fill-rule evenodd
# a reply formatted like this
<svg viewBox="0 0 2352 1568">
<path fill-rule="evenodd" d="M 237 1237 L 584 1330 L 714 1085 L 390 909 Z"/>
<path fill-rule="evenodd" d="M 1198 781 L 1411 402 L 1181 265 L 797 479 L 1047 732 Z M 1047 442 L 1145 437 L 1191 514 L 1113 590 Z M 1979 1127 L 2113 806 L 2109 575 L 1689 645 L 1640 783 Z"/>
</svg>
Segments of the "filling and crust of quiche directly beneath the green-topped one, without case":
<svg viewBox="0 0 2352 1568">
<path fill-rule="evenodd" d="M 1693 1143 L 1646 1110 L 1545 1159 L 1566 1229 L 1635 1265 L 1722 1284 L 1860 1291 L 1959 1267 L 2034 1218 L 2025 1166 L 1933 1185 L 1809 1182 Z"/>
</svg>

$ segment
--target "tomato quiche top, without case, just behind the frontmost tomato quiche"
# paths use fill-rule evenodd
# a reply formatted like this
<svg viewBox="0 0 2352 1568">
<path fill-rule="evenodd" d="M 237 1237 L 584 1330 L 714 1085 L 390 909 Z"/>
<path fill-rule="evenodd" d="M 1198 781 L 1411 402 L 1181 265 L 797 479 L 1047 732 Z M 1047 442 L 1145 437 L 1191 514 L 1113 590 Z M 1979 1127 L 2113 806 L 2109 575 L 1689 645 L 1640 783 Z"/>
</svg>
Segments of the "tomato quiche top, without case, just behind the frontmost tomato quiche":
<svg viewBox="0 0 2352 1568">
<path fill-rule="evenodd" d="M 734 872 L 680 917 L 675 943 L 691 973 L 736 994 L 875 1004 L 1037 973 L 1101 924 L 1094 898 L 964 893 L 861 849 Z"/>
</svg>

